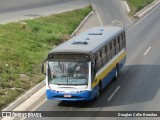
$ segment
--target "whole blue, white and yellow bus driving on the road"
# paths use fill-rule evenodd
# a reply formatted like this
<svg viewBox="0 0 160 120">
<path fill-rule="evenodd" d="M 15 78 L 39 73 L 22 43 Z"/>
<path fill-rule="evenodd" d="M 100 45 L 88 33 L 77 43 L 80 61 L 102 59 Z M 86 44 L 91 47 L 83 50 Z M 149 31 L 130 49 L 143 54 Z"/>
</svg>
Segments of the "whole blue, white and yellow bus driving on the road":
<svg viewBox="0 0 160 120">
<path fill-rule="evenodd" d="M 125 61 L 124 27 L 90 28 L 49 52 L 42 63 L 46 96 L 63 101 L 96 99 L 117 79 Z"/>
</svg>

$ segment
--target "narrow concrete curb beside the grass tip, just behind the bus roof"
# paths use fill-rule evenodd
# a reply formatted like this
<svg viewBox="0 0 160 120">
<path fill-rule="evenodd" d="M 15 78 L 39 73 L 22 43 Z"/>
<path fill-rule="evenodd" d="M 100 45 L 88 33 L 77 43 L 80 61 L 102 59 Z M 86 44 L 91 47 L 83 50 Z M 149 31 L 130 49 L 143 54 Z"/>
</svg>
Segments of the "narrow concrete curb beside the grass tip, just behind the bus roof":
<svg viewBox="0 0 160 120">
<path fill-rule="evenodd" d="M 94 14 L 94 11 L 92 10 L 79 24 L 79 26 L 73 31 L 73 33 L 70 35 L 71 37 L 75 36 L 77 34 L 77 31 L 83 26 L 83 24 L 88 20 L 88 18 Z"/>
</svg>

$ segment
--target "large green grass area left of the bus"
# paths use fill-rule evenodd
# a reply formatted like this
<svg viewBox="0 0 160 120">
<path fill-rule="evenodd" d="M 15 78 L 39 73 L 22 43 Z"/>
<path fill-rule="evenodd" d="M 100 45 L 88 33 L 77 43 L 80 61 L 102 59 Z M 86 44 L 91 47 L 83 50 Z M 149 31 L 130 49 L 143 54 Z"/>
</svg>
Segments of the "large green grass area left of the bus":
<svg viewBox="0 0 160 120">
<path fill-rule="evenodd" d="M 0 25 L 0 110 L 44 79 L 40 64 L 92 10 L 86 7 Z"/>
</svg>

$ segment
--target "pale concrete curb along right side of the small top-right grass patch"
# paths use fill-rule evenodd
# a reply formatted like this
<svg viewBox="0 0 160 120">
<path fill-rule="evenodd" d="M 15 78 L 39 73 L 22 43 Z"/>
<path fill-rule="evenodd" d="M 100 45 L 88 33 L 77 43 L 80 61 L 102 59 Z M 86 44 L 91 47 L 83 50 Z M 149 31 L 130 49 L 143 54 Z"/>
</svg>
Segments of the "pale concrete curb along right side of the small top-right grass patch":
<svg viewBox="0 0 160 120">
<path fill-rule="evenodd" d="M 154 7 L 156 7 L 159 3 L 160 3 L 160 0 L 153 1 L 148 6 L 144 7 L 142 10 L 140 10 L 135 15 L 133 15 L 133 17 L 140 18 L 144 16 L 146 13 L 150 12 Z"/>
</svg>

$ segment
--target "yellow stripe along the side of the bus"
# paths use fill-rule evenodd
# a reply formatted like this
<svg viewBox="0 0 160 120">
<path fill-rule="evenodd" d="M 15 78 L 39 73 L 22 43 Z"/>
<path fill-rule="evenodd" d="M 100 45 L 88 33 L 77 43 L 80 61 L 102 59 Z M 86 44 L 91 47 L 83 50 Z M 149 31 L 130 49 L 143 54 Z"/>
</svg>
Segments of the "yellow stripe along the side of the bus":
<svg viewBox="0 0 160 120">
<path fill-rule="evenodd" d="M 99 80 L 102 80 L 113 68 L 116 67 L 117 63 L 119 63 L 126 56 L 126 51 L 124 51 L 116 60 L 114 60 L 102 73 L 100 73 L 92 83 L 92 88 L 94 88 Z"/>
</svg>

